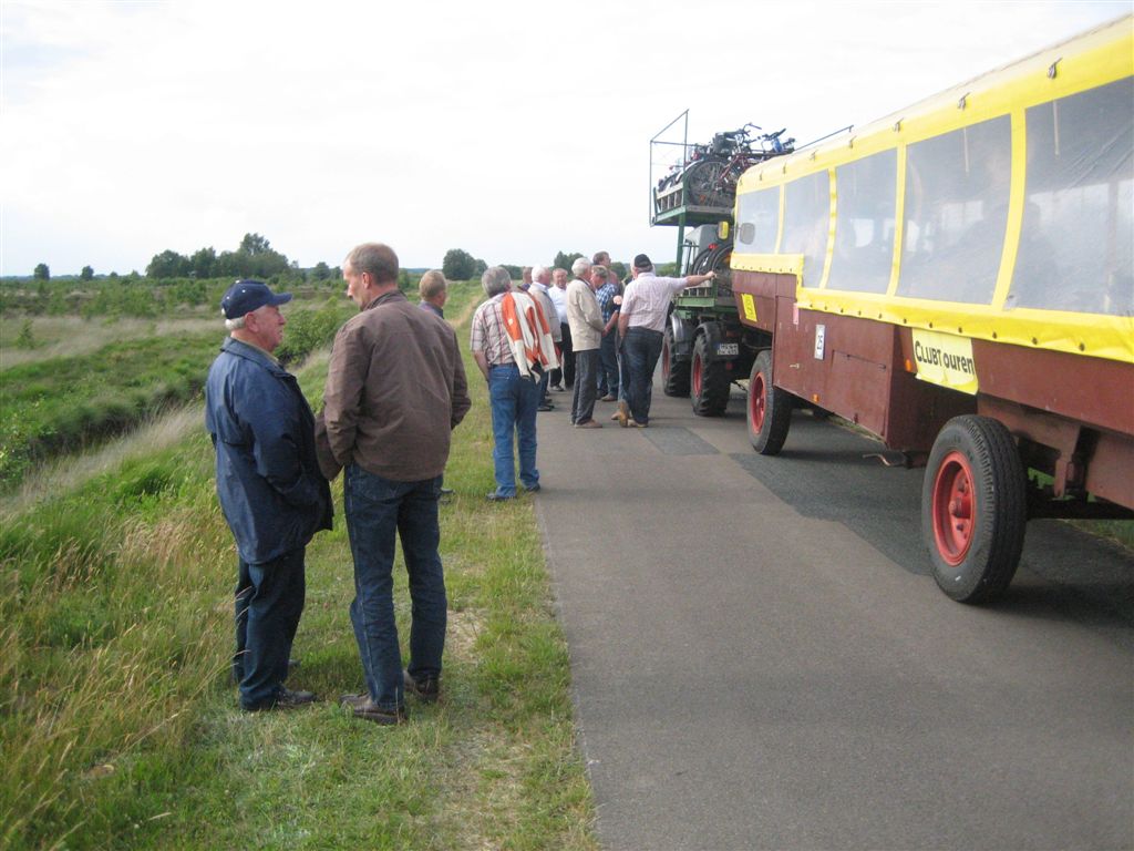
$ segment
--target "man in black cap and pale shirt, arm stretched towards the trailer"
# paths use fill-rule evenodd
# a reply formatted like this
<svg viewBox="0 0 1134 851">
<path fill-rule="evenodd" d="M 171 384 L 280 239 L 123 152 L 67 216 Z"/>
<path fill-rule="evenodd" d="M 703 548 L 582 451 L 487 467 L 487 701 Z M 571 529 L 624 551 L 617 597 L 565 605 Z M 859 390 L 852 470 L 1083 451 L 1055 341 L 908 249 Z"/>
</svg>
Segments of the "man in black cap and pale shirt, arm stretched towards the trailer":
<svg viewBox="0 0 1134 851">
<path fill-rule="evenodd" d="M 618 332 L 624 340 L 623 355 L 628 364 L 626 397 L 618 402 L 618 423 L 623 428 L 633 422 L 644 429 L 650 423 L 653 371 L 661 356 L 669 302 L 685 287 L 699 286 L 714 276 L 716 272 L 709 272 L 687 278 L 659 278 L 653 273 L 650 258 L 645 254 L 634 258 L 634 280 L 626 287 L 618 315 Z"/>
</svg>

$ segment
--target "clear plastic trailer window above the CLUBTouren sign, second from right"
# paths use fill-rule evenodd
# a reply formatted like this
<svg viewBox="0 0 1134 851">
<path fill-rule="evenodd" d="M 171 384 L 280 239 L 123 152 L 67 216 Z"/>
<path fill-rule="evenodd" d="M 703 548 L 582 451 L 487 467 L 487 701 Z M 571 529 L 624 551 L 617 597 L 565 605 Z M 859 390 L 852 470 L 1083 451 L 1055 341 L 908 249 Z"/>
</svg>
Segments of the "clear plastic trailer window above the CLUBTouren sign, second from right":
<svg viewBox="0 0 1134 851">
<path fill-rule="evenodd" d="M 1008 116 L 909 145 L 898 295 L 992 301 L 1010 179 Z"/>
</svg>

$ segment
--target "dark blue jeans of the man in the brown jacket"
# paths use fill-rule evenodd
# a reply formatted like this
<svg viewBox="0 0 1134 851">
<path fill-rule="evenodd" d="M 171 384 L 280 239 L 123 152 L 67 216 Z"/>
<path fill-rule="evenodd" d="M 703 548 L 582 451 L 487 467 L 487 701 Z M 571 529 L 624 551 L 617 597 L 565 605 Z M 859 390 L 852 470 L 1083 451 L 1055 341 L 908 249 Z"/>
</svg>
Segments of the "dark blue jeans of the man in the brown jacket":
<svg viewBox="0 0 1134 851">
<path fill-rule="evenodd" d="M 437 502 L 441 477 L 391 481 L 363 470 L 346 469 L 342 486 L 347 534 L 355 563 L 355 598 L 350 604 L 363 676 L 371 699 L 386 709 L 404 705 L 401 651 L 393 620 L 393 548 L 409 574 L 411 625 L 408 671 L 415 680 L 441 674 L 448 601 L 438 545 L 441 540 Z"/>
</svg>

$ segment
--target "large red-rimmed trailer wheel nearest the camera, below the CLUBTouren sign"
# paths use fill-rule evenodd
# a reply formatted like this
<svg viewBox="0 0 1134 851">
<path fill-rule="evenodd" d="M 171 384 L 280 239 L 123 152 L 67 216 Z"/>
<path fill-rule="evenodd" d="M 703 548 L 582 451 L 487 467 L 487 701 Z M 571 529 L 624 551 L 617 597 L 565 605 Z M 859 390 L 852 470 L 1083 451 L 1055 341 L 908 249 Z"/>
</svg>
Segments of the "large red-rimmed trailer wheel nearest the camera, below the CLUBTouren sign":
<svg viewBox="0 0 1134 851">
<path fill-rule="evenodd" d="M 1012 582 L 1024 547 L 1026 479 L 1004 423 L 956 416 L 933 441 L 922 486 L 922 536 L 933 579 L 958 603 L 985 603 Z"/>
</svg>

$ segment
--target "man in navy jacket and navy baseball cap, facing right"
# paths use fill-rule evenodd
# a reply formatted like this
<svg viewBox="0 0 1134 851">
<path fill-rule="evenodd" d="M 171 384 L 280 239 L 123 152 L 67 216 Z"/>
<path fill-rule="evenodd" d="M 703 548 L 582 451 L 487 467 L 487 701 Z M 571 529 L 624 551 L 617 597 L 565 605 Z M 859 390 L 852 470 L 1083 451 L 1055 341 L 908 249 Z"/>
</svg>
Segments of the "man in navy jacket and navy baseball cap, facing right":
<svg viewBox="0 0 1134 851">
<path fill-rule="evenodd" d="M 299 385 L 272 352 L 287 320 L 259 280 L 238 280 L 221 300 L 231 336 L 205 384 L 205 428 L 217 450 L 217 495 L 236 538 L 236 655 L 244 709 L 303 706 L 310 691 L 287 679 L 303 613 L 304 553 L 331 528 L 331 491 L 315 457 L 315 424 Z"/>
</svg>

